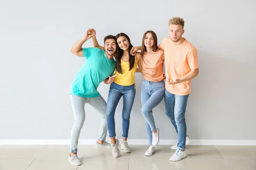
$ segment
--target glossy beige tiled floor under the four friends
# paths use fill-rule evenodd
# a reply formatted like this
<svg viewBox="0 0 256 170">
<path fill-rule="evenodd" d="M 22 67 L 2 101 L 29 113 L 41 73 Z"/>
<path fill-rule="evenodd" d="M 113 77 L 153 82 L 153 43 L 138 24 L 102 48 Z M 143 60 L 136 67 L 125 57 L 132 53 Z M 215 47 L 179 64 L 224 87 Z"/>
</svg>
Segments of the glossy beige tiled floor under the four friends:
<svg viewBox="0 0 256 170">
<path fill-rule="evenodd" d="M 0 145 L 0 170 L 256 170 L 256 146 L 187 145 L 187 157 L 169 161 L 171 145 L 159 145 L 144 156 L 146 145 L 114 159 L 111 149 L 79 145 L 81 166 L 67 160 L 68 145 Z"/>
</svg>

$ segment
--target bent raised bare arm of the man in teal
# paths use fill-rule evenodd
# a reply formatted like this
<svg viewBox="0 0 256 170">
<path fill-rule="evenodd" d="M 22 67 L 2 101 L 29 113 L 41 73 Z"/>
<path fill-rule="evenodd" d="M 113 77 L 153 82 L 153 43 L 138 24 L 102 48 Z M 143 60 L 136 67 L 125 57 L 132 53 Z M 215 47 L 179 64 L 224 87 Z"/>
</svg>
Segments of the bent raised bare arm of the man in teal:
<svg viewBox="0 0 256 170">
<path fill-rule="evenodd" d="M 73 45 L 73 47 L 70 50 L 73 54 L 75 54 L 79 57 L 84 57 L 82 45 L 84 44 L 84 42 L 86 42 L 87 40 L 89 40 L 91 37 L 93 37 L 96 34 L 95 31 L 93 32 L 91 30 L 94 30 L 94 29 L 93 28 L 87 29 L 84 37 L 81 40 L 79 40 L 78 42 L 76 42 L 75 45 Z"/>
</svg>

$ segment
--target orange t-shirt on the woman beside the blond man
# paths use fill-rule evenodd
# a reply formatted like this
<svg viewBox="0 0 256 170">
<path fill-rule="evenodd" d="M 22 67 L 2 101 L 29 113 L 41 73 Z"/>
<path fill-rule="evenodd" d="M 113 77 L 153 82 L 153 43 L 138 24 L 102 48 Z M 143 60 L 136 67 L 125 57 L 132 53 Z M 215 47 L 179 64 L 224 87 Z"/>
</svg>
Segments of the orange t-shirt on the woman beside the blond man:
<svg viewBox="0 0 256 170">
<path fill-rule="evenodd" d="M 151 52 L 143 52 L 141 57 L 142 76 L 150 82 L 163 80 L 164 52 L 161 49 Z"/>
</svg>

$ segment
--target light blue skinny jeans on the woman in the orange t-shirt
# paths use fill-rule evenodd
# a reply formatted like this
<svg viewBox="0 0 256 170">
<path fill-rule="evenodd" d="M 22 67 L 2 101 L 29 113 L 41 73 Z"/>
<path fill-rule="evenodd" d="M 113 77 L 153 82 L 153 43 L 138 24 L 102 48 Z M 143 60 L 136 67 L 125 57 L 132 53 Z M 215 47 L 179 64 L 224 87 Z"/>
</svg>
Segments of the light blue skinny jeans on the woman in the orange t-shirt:
<svg viewBox="0 0 256 170">
<path fill-rule="evenodd" d="M 152 132 L 156 130 L 154 122 L 153 108 L 162 100 L 165 93 L 165 84 L 160 82 L 149 82 L 143 79 L 141 88 L 142 114 L 145 117 L 148 144 L 152 145 Z"/>
</svg>

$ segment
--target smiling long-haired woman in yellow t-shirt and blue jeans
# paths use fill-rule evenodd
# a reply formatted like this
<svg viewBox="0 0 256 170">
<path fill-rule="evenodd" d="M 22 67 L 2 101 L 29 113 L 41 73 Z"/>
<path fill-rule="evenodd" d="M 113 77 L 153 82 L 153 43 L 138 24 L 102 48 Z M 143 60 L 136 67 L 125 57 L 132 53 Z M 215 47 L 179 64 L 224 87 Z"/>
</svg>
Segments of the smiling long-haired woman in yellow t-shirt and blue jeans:
<svg viewBox="0 0 256 170">
<path fill-rule="evenodd" d="M 99 48 L 96 37 L 93 37 L 93 45 Z M 134 103 L 136 94 L 135 72 L 137 65 L 140 67 L 141 54 L 137 52 L 135 56 L 130 54 L 131 48 L 130 38 L 125 33 L 116 35 L 116 70 L 112 77 L 104 81 L 106 84 L 111 84 L 107 102 L 107 123 L 108 133 L 111 139 L 112 155 L 114 158 L 119 156 L 119 140 L 116 139 L 115 130 L 115 111 L 116 106 L 123 96 L 122 109 L 122 145 L 121 149 L 125 153 L 130 153 L 131 148 L 128 146 L 127 138 L 130 125 L 131 108 Z"/>
</svg>

